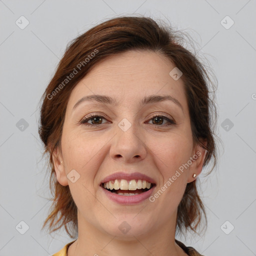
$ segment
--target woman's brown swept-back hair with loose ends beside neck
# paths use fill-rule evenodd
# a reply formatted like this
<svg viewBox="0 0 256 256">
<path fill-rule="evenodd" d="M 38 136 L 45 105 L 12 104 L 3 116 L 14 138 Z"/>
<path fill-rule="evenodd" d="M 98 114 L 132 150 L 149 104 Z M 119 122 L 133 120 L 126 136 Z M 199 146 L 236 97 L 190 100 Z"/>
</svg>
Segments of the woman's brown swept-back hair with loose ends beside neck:
<svg viewBox="0 0 256 256">
<path fill-rule="evenodd" d="M 216 165 L 216 144 L 213 138 L 216 107 L 209 97 L 208 87 L 212 82 L 202 63 L 195 54 L 182 46 L 182 38 L 169 25 L 160 26 L 153 19 L 143 16 L 122 16 L 104 21 L 67 45 L 55 74 L 42 95 L 39 135 L 45 146 L 44 154 L 49 153 L 48 163 L 51 168 L 49 185 L 53 195 L 51 211 L 42 228 L 49 222 L 50 233 L 62 226 L 71 238 L 75 237 L 74 233 L 77 232 L 77 207 L 69 186 L 58 183 L 52 161 L 53 150 L 60 145 L 70 92 L 100 60 L 132 49 L 151 50 L 163 54 L 182 71 L 181 79 L 189 107 L 193 143 L 207 150 L 203 166 L 212 157 L 213 167 Z M 69 79 L 71 73 L 75 75 Z M 206 140 L 207 145 L 204 146 L 201 140 Z M 183 198 L 178 205 L 176 232 L 183 233 L 188 228 L 196 232 L 202 215 L 206 220 L 204 206 L 194 180 L 187 183 Z"/>
</svg>

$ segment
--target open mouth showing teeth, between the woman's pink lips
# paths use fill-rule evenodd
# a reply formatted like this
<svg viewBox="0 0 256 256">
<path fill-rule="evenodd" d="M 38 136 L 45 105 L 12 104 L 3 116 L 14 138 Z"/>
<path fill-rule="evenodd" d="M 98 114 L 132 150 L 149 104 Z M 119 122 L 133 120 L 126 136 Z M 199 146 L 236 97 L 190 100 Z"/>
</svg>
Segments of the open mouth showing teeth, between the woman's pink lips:
<svg viewBox="0 0 256 256">
<path fill-rule="evenodd" d="M 102 186 L 104 189 L 108 190 L 111 193 L 118 194 L 118 195 L 124 195 L 124 196 L 130 196 L 130 195 L 136 195 L 141 194 L 143 192 L 146 192 L 150 190 L 153 186 L 155 186 L 154 183 L 147 182 L 145 180 L 110 180 L 105 183 L 101 183 L 100 186 Z"/>
</svg>

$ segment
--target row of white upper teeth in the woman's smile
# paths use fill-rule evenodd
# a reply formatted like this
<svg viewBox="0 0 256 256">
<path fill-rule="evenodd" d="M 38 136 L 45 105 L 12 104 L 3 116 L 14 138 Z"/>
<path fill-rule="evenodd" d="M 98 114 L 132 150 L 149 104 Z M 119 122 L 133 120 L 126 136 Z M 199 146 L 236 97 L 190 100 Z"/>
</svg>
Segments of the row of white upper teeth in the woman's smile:
<svg viewBox="0 0 256 256">
<path fill-rule="evenodd" d="M 136 182 L 135 179 L 132 180 L 126 180 L 126 179 L 121 179 L 118 181 L 118 179 L 115 180 L 109 180 L 105 183 L 103 183 L 103 187 L 107 189 L 121 189 L 121 190 L 136 190 L 136 189 L 141 189 L 141 188 L 150 188 L 151 183 L 147 182 L 146 180 L 141 180 L 138 179 Z"/>
</svg>

